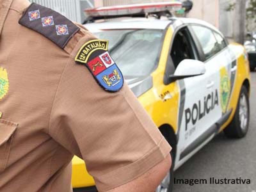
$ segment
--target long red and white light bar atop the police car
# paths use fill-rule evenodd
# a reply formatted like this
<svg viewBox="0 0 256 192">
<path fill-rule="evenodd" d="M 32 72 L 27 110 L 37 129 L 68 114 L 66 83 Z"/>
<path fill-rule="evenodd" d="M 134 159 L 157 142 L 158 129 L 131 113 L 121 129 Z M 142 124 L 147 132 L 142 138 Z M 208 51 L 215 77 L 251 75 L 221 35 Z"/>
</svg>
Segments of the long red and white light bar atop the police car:
<svg viewBox="0 0 256 192">
<path fill-rule="evenodd" d="M 163 11 L 178 11 L 182 8 L 182 3 L 178 1 L 161 2 L 161 3 L 146 3 L 132 5 L 118 5 L 109 7 L 89 8 L 84 12 L 91 17 L 100 16 L 122 16 L 133 15 L 139 13 L 156 13 Z"/>
</svg>

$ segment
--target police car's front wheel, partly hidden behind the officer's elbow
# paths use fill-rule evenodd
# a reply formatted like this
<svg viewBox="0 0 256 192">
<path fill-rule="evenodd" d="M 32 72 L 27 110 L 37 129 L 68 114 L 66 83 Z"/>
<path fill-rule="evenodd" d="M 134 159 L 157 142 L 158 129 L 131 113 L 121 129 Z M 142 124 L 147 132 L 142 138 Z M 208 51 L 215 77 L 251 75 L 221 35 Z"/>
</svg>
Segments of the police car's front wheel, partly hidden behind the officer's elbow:
<svg viewBox="0 0 256 192">
<path fill-rule="evenodd" d="M 172 157 L 172 166 L 170 168 L 170 171 L 167 173 L 167 175 L 162 180 L 161 184 L 156 188 L 156 192 L 172 192 L 172 187 L 174 183 L 174 160 L 173 155 L 171 153 Z"/>
</svg>

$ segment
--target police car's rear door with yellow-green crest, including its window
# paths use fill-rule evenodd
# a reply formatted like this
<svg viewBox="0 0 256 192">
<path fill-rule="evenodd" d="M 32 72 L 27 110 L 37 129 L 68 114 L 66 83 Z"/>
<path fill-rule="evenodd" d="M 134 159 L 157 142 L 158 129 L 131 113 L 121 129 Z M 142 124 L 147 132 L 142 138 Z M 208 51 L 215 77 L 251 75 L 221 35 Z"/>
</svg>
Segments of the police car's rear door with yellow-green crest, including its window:
<svg viewBox="0 0 256 192">
<path fill-rule="evenodd" d="M 228 103 L 235 80 L 236 61 L 232 58 L 232 52 L 228 50 L 225 39 L 218 31 L 202 25 L 192 25 L 191 28 L 201 46 L 202 61 L 205 63 L 206 73 L 210 76 L 207 88 L 211 85 L 218 95 L 211 120 L 212 123 L 218 123 L 221 126 L 231 112 L 228 109 Z M 207 43 L 210 39 L 212 39 L 211 45 Z"/>
</svg>

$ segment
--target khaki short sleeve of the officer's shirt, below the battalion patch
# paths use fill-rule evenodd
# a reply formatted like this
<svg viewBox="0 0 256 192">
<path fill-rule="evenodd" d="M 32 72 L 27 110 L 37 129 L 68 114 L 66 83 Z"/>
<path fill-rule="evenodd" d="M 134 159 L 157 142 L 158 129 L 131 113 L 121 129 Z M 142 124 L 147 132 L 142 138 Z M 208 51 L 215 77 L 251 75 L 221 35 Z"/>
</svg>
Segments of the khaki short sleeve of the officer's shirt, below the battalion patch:
<svg viewBox="0 0 256 192">
<path fill-rule="evenodd" d="M 171 150 L 126 83 L 106 92 L 72 57 L 55 95 L 49 134 L 84 159 L 99 191 L 134 180 Z"/>
</svg>

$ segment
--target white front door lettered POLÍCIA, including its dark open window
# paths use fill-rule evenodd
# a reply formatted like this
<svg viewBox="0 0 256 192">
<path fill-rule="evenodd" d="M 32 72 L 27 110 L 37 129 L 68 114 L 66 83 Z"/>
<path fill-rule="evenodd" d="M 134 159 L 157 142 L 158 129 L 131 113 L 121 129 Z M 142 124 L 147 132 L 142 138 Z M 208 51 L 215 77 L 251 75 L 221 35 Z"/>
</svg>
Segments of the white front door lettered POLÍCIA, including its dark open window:
<svg viewBox="0 0 256 192">
<path fill-rule="evenodd" d="M 173 38 L 171 59 L 174 68 L 184 59 L 199 60 L 196 44 L 188 27 L 178 30 Z M 212 126 L 209 115 L 216 105 L 211 73 L 178 80 L 180 104 L 178 113 L 176 166 L 193 155 L 205 140 L 204 133 Z M 209 135 L 207 135 L 209 137 Z"/>
</svg>

